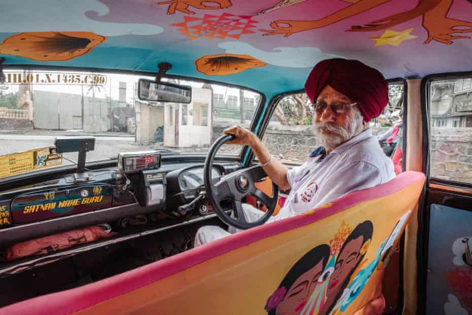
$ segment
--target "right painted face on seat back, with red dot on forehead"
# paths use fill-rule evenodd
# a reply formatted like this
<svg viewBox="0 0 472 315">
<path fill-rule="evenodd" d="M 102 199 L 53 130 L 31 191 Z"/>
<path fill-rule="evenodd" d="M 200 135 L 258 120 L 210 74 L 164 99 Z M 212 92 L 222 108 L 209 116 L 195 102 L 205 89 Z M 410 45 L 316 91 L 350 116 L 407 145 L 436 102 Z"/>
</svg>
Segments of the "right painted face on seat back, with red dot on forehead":
<svg viewBox="0 0 472 315">
<path fill-rule="evenodd" d="M 359 250 L 362 247 L 362 241 L 362 236 L 349 241 L 339 254 L 338 259 L 336 259 L 334 271 L 329 279 L 327 290 L 328 297 L 333 298 L 339 293 L 349 273 L 356 267 L 361 257 Z"/>
</svg>

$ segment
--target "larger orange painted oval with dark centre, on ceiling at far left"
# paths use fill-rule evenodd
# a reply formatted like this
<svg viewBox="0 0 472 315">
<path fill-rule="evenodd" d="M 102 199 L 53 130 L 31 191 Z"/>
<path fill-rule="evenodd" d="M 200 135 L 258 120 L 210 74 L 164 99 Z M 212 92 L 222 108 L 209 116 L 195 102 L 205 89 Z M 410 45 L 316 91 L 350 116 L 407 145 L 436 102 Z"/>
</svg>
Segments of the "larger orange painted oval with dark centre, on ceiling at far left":
<svg viewBox="0 0 472 315">
<path fill-rule="evenodd" d="M 64 61 L 82 56 L 106 40 L 106 36 L 88 31 L 27 32 L 6 38 L 0 53 L 37 61 Z"/>
</svg>

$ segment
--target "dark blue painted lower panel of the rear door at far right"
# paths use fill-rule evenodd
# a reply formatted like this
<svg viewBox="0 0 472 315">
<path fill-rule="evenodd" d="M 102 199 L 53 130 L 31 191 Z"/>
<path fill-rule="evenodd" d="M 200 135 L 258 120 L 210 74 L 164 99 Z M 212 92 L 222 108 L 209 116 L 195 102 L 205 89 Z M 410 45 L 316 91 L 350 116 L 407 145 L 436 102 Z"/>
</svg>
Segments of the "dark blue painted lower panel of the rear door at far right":
<svg viewBox="0 0 472 315">
<path fill-rule="evenodd" d="M 472 239 L 472 198 L 431 189 L 428 204 L 426 314 L 472 314 L 472 266 L 462 242 Z"/>
</svg>

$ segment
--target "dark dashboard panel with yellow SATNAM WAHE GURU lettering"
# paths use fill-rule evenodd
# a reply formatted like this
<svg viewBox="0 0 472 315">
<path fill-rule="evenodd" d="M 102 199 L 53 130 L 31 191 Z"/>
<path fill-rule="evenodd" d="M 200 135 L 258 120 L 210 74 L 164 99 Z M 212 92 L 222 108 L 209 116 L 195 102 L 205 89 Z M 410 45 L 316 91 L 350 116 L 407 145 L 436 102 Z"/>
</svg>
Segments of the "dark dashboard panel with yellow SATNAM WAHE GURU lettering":
<svg viewBox="0 0 472 315">
<path fill-rule="evenodd" d="M 15 197 L 13 223 L 30 223 L 112 206 L 113 188 L 106 184 L 84 185 Z"/>
</svg>

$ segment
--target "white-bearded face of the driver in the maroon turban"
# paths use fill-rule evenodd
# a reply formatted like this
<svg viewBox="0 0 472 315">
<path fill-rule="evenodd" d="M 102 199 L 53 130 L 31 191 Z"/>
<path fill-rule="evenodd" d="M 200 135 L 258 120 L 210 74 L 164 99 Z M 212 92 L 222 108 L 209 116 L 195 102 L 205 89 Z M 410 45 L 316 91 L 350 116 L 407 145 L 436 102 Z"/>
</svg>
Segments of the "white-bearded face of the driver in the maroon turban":
<svg viewBox="0 0 472 315">
<path fill-rule="evenodd" d="M 338 114 L 331 110 L 331 104 L 352 104 L 343 93 L 340 93 L 327 85 L 321 90 L 317 103 L 325 103 L 328 106 L 323 112 L 316 111 L 315 135 L 320 144 L 328 150 L 334 149 L 359 134 L 363 129 L 362 115 L 359 110 L 352 107 L 349 111 Z"/>
</svg>

